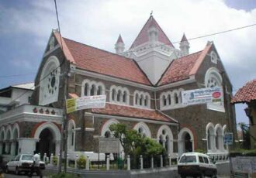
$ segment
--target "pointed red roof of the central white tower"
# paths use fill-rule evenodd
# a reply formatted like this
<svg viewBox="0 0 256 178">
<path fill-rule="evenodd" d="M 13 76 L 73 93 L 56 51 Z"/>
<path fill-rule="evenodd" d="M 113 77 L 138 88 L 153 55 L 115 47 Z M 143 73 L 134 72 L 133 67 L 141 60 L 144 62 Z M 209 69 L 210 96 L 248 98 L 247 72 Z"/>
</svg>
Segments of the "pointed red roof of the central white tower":
<svg viewBox="0 0 256 178">
<path fill-rule="evenodd" d="M 130 49 L 139 46 L 143 43 L 148 42 L 148 35 L 147 30 L 150 28 L 150 26 L 154 26 L 158 30 L 158 41 L 161 43 L 164 43 L 168 46 L 172 46 L 172 43 L 170 39 L 165 35 L 164 31 L 161 29 L 161 27 L 158 25 L 157 21 L 154 19 L 152 15 L 150 15 L 150 18 L 145 23 L 144 27 L 140 30 L 140 33 L 138 34 L 137 38 L 134 40 L 132 46 L 130 46 Z"/>
</svg>

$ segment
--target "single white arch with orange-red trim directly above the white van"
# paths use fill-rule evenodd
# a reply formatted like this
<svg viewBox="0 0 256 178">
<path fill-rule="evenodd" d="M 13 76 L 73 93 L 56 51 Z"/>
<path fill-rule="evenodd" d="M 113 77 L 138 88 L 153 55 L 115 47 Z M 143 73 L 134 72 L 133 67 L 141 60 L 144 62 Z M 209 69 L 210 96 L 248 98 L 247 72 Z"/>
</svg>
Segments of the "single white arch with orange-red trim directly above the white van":
<svg viewBox="0 0 256 178">
<path fill-rule="evenodd" d="M 192 131 L 189 128 L 182 128 L 178 133 L 178 155 L 181 156 L 183 152 L 194 152 L 195 139 Z"/>
</svg>

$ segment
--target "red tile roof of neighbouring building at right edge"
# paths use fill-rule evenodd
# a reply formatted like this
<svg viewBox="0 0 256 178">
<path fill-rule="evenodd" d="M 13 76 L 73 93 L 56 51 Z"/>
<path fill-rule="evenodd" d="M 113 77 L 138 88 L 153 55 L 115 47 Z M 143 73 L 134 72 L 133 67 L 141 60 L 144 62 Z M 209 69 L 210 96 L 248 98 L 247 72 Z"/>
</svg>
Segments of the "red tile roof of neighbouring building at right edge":
<svg viewBox="0 0 256 178">
<path fill-rule="evenodd" d="M 245 103 L 256 100 L 256 79 L 249 81 L 234 95 L 231 103 Z"/>
</svg>

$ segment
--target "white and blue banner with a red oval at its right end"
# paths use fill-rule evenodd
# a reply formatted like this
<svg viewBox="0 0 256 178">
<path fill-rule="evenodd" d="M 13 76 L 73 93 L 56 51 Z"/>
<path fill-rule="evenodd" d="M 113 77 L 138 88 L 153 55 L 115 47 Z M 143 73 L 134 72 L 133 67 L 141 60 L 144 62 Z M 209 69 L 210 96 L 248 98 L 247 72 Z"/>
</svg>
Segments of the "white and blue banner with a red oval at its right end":
<svg viewBox="0 0 256 178">
<path fill-rule="evenodd" d="M 206 87 L 190 91 L 182 91 L 182 104 L 205 104 L 223 102 L 222 87 Z"/>
</svg>

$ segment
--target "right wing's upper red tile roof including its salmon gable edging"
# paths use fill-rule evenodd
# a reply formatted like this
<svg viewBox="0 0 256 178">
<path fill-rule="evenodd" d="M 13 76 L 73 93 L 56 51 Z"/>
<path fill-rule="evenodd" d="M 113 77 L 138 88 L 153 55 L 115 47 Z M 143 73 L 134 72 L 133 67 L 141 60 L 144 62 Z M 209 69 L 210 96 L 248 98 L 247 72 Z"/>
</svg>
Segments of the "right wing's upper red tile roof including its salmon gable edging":
<svg viewBox="0 0 256 178">
<path fill-rule="evenodd" d="M 212 44 L 213 43 L 208 43 L 202 51 L 173 60 L 167 70 L 165 70 L 157 85 L 170 84 L 176 81 L 189 79 L 190 76 L 195 75 Z"/>
</svg>

